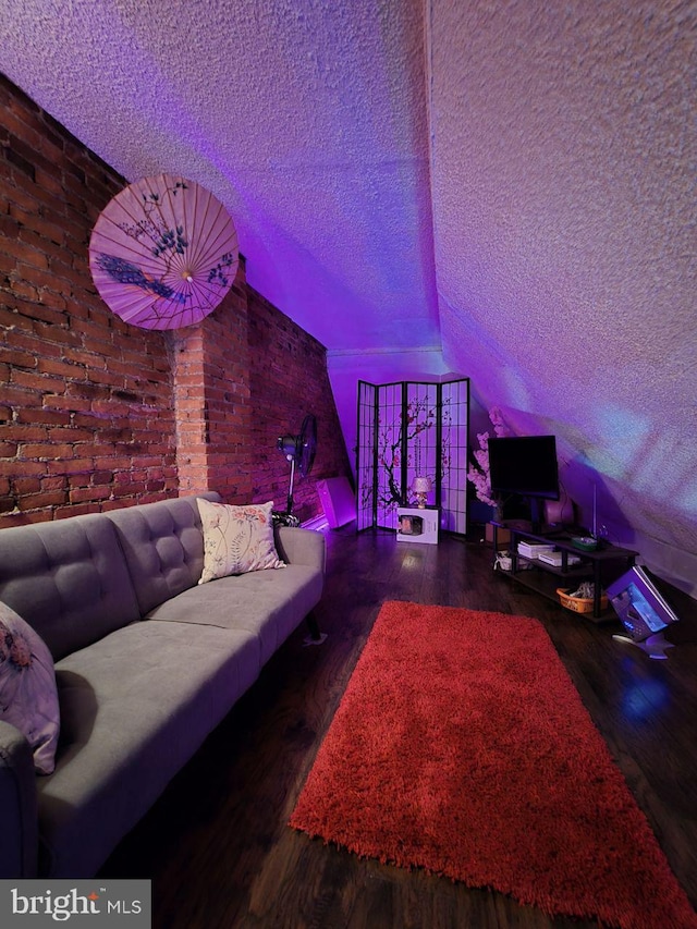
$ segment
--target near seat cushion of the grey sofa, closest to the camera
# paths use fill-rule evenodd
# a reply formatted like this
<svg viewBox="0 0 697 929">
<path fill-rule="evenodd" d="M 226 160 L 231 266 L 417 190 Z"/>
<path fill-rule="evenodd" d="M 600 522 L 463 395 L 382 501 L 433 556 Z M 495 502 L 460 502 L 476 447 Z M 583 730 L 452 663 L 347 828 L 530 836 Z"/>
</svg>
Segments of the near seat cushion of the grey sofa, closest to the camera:
<svg viewBox="0 0 697 929">
<path fill-rule="evenodd" d="M 246 632 L 138 622 L 56 665 L 62 733 L 38 780 L 41 872 L 95 873 L 259 673 Z"/>
</svg>

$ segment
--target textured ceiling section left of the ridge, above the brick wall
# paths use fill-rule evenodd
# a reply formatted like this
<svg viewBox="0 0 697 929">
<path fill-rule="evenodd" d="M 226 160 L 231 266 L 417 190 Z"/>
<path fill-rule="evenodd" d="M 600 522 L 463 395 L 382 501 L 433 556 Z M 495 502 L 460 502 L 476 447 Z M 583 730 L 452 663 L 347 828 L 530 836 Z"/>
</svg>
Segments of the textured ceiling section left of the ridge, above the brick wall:
<svg viewBox="0 0 697 929">
<path fill-rule="evenodd" d="M 210 190 L 325 345 L 440 347 L 419 3 L 3 7 L 8 76 L 130 181 Z"/>
</svg>

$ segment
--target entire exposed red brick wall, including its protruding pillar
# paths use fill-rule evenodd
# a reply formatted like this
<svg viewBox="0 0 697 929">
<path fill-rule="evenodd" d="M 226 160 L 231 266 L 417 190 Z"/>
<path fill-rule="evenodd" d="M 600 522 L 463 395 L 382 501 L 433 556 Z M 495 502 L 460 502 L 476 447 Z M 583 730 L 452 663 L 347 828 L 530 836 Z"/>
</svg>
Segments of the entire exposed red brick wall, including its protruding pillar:
<svg viewBox="0 0 697 929">
<path fill-rule="evenodd" d="M 276 439 L 304 412 L 320 452 L 296 512 L 319 512 L 315 480 L 348 474 L 322 346 L 247 286 L 244 261 L 199 326 L 122 322 L 88 245 L 125 183 L 0 77 L 0 527 L 206 487 L 282 508 Z"/>
</svg>

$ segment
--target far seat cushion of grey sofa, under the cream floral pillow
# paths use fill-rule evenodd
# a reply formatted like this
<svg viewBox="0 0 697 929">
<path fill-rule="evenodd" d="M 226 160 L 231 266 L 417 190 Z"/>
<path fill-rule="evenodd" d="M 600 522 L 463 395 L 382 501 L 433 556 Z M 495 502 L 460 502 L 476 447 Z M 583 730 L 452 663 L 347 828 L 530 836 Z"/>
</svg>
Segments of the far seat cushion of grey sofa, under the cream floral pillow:
<svg viewBox="0 0 697 929">
<path fill-rule="evenodd" d="M 245 631 L 258 639 L 264 663 L 315 607 L 322 584 L 321 571 L 304 564 L 254 571 L 185 590 L 151 610 L 148 619 Z"/>
</svg>

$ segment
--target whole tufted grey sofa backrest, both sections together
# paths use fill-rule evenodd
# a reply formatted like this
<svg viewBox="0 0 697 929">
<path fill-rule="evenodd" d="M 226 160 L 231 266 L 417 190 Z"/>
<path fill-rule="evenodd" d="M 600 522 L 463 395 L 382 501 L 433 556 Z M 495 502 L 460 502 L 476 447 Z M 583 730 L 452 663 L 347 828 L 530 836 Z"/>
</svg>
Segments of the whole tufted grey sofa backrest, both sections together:
<svg viewBox="0 0 697 929">
<path fill-rule="evenodd" d="M 0 600 L 54 661 L 193 587 L 203 565 L 195 497 L 0 530 Z"/>
</svg>

